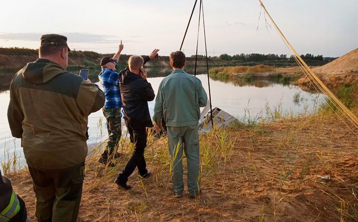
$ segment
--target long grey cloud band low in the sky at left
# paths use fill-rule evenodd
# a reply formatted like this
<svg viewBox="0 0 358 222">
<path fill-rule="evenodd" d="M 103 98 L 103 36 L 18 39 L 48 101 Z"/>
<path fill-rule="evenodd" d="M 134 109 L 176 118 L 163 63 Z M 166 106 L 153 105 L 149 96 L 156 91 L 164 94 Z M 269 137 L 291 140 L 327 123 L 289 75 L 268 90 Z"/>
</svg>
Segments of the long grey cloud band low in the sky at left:
<svg viewBox="0 0 358 222">
<path fill-rule="evenodd" d="M 22 40 L 22 41 L 39 41 L 41 35 L 44 33 L 10 33 L 10 32 L 0 32 L 0 39 L 9 41 L 9 40 Z M 46 34 L 46 33 L 45 33 Z M 97 35 L 85 32 L 65 32 L 58 33 L 65 35 L 68 38 L 70 44 L 73 43 L 96 43 L 96 44 L 105 44 L 105 43 L 118 43 L 121 38 L 115 35 Z M 139 43 L 141 41 L 136 40 L 140 36 L 127 36 L 122 37 L 122 40 L 128 42 Z"/>
</svg>

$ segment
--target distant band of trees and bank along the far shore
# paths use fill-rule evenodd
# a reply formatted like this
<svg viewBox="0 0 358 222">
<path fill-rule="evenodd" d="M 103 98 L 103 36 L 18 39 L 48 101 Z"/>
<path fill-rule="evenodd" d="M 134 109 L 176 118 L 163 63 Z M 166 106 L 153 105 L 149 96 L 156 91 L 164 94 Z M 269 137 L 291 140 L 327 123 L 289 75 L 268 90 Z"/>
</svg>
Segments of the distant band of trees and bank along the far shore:
<svg viewBox="0 0 358 222">
<path fill-rule="evenodd" d="M 69 55 L 69 67 L 84 68 L 97 67 L 100 69 L 100 60 L 103 56 L 113 56 L 113 54 L 100 54 L 92 51 L 77 51 L 73 50 Z M 121 67 L 126 67 L 130 55 L 123 54 L 119 61 Z M 159 55 L 160 60 L 151 60 L 146 66 L 151 67 L 170 67 L 169 56 Z M 38 57 L 38 50 L 26 48 L 0 48 L 0 70 L 1 69 L 15 69 L 23 67 L 27 62 L 34 61 Z M 196 62 L 196 55 L 191 55 L 186 58 L 186 67 L 206 66 L 205 55 L 198 55 Z M 321 66 L 335 58 L 323 57 L 323 55 L 306 54 L 301 57 L 310 66 Z M 293 56 L 275 55 L 275 54 L 236 54 L 228 55 L 222 54 L 220 56 L 208 56 L 208 65 L 210 67 L 216 66 L 255 66 L 258 64 L 271 65 L 276 67 L 291 67 L 297 66 Z"/>
</svg>

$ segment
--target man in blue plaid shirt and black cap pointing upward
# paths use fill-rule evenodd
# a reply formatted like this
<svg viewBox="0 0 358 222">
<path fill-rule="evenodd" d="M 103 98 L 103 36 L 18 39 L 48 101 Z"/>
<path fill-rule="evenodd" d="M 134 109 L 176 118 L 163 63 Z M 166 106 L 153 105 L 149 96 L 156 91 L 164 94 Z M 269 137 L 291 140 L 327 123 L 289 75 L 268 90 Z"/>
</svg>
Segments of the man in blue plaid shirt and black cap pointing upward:
<svg viewBox="0 0 358 222">
<path fill-rule="evenodd" d="M 119 141 L 122 136 L 121 129 L 121 91 L 119 89 L 119 77 L 116 72 L 117 62 L 124 46 L 119 45 L 118 52 L 113 56 L 105 56 L 101 60 L 102 71 L 98 75 L 100 82 L 103 85 L 105 94 L 105 103 L 102 108 L 103 115 L 107 120 L 108 142 L 98 162 L 109 167 L 114 167 L 113 159 L 120 157 L 122 154 L 118 153 Z"/>
</svg>

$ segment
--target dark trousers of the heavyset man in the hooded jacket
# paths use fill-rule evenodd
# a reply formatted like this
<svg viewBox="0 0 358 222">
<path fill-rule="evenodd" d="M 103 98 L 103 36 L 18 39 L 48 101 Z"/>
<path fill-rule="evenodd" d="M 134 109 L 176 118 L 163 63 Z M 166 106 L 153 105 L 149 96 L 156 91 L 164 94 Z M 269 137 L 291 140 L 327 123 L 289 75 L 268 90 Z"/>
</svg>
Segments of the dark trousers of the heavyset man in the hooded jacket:
<svg viewBox="0 0 358 222">
<path fill-rule="evenodd" d="M 76 222 L 82 195 L 84 163 L 61 171 L 28 167 L 36 196 L 39 222 Z"/>
</svg>

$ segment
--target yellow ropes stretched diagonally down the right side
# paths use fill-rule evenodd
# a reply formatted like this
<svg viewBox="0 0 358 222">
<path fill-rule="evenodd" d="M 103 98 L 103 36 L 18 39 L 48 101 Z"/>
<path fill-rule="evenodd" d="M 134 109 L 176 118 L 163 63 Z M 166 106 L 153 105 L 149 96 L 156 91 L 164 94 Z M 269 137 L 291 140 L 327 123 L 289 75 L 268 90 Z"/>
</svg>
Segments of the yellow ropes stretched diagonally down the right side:
<svg viewBox="0 0 358 222">
<path fill-rule="evenodd" d="M 291 46 L 291 44 L 287 41 L 286 37 L 282 34 L 280 28 L 276 25 L 276 23 L 274 22 L 274 20 L 271 18 L 270 14 L 268 13 L 268 11 L 266 10 L 265 6 L 262 4 L 262 1 L 260 1 L 260 5 L 261 7 L 265 10 L 266 14 L 268 15 L 268 17 L 270 18 L 271 22 L 273 23 L 273 25 L 275 26 L 276 30 L 279 32 L 281 39 L 283 40 L 283 42 L 286 44 L 286 46 L 292 51 L 293 53 L 293 58 L 296 60 L 297 64 L 300 66 L 301 70 L 305 73 L 305 75 L 307 76 L 308 80 L 310 81 L 310 83 L 314 86 L 314 88 L 317 91 L 322 92 L 323 94 L 325 94 L 328 99 L 332 102 L 333 106 L 340 111 L 341 113 L 343 113 L 343 115 L 345 117 L 348 118 L 348 120 L 358 129 L 358 118 L 357 116 L 350 111 L 332 92 L 331 90 L 329 90 L 327 88 L 327 86 L 325 84 L 322 83 L 322 81 L 313 73 L 313 71 L 307 66 L 307 64 L 305 63 L 305 61 L 300 57 L 300 55 L 297 54 L 297 52 L 293 49 L 293 47 Z M 332 107 L 331 107 L 332 109 Z M 333 110 L 333 109 L 332 109 Z M 334 111 L 334 110 L 333 110 Z M 335 112 L 335 111 L 334 111 Z M 336 113 L 336 112 L 335 112 Z M 337 114 L 337 113 L 336 113 Z M 344 122 L 344 120 L 337 114 L 337 116 Z M 344 122 L 344 124 L 346 124 L 346 126 L 353 132 L 353 134 L 355 134 L 357 136 L 357 134 L 353 131 L 353 129 L 351 127 L 349 127 L 347 125 L 347 123 Z M 358 137 L 358 136 L 357 136 Z"/>
</svg>

